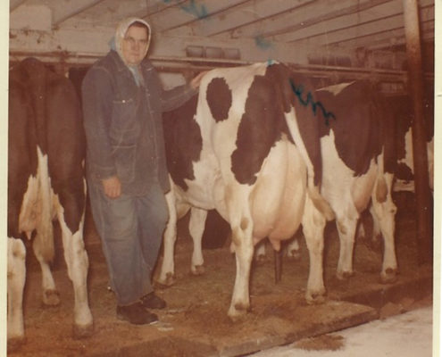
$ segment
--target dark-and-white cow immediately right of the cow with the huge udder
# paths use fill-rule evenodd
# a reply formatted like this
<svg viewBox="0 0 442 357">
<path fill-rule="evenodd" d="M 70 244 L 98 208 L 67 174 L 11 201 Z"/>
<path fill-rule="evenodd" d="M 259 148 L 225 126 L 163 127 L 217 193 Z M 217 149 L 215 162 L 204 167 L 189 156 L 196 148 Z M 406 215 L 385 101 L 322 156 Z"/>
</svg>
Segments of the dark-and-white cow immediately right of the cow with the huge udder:
<svg viewBox="0 0 442 357">
<path fill-rule="evenodd" d="M 336 216 L 340 252 L 338 278 L 354 274 L 357 222 L 371 203 L 384 237 L 380 278 L 396 279 L 396 205 L 391 191 L 396 168 L 395 122 L 384 98 L 368 81 L 354 81 L 315 92 L 336 120 L 321 127 L 321 195 Z"/>
</svg>

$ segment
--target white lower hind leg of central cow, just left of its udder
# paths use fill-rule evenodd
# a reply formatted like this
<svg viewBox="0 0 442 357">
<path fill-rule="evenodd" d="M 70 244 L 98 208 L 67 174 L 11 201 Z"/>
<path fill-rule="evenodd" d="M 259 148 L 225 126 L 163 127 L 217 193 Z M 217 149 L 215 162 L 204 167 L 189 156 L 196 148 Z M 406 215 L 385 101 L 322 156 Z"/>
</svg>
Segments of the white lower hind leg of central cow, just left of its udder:
<svg viewBox="0 0 442 357">
<path fill-rule="evenodd" d="M 230 319 L 236 320 L 250 308 L 249 280 L 250 267 L 254 256 L 254 243 L 252 237 L 253 221 L 250 215 L 237 215 L 235 213 L 233 215 L 235 219 L 232 220 L 233 217 L 230 216 L 230 221 L 233 222 L 231 224 L 232 243 L 235 250 L 237 273 L 228 315 Z"/>
</svg>

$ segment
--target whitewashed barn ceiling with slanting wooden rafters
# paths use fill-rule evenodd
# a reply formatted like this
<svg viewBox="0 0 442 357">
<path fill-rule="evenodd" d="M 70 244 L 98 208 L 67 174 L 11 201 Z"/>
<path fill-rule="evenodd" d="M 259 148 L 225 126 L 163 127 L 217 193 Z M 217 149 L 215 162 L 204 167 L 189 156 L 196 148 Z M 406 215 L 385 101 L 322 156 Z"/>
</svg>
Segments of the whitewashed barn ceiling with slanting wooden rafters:
<svg viewBox="0 0 442 357">
<path fill-rule="evenodd" d="M 251 38 L 315 46 L 391 48 L 404 45 L 403 0 L 11 0 L 45 4 L 53 28 L 111 27 L 142 17 L 171 36 Z M 434 40 L 434 0 L 420 0 L 421 37 Z"/>
</svg>

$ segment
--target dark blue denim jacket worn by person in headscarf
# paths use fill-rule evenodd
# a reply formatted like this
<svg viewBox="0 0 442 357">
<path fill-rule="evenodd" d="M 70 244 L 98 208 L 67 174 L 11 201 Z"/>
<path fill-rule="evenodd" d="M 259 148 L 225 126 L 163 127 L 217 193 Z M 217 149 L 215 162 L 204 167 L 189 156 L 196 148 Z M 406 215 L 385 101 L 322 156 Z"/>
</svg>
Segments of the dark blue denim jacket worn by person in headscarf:
<svg viewBox="0 0 442 357">
<path fill-rule="evenodd" d="M 90 68 L 82 84 L 88 180 L 117 176 L 127 195 L 145 195 L 156 180 L 164 192 L 170 189 L 162 112 L 196 94 L 187 85 L 164 91 L 146 59 L 140 69 L 145 85 L 138 87 L 120 55 L 111 50 Z"/>
</svg>

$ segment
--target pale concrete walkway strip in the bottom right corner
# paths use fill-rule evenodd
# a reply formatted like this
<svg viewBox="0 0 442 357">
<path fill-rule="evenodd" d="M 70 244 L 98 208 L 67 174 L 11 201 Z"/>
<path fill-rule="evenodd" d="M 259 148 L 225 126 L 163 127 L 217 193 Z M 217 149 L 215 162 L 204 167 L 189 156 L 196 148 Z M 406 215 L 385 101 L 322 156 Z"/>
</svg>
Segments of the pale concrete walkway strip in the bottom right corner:
<svg viewBox="0 0 442 357">
<path fill-rule="evenodd" d="M 386 320 L 306 338 L 287 346 L 251 354 L 253 357 L 431 357 L 433 354 L 431 301 Z M 416 305 L 417 306 L 417 305 Z"/>
</svg>

